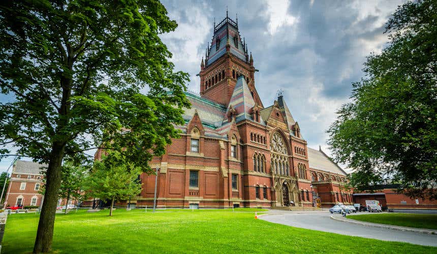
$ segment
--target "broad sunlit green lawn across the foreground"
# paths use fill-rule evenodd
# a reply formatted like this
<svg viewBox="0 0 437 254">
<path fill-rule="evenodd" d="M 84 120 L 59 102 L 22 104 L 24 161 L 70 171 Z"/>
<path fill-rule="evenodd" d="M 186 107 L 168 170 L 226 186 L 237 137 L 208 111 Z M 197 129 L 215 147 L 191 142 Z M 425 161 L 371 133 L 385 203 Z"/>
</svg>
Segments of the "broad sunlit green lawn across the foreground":
<svg viewBox="0 0 437 254">
<path fill-rule="evenodd" d="M 244 210 L 242 210 L 244 211 Z M 395 253 L 436 252 L 437 248 L 386 242 L 288 227 L 255 219 L 252 212 L 202 210 L 144 212 L 117 209 L 57 214 L 53 252 L 56 253 Z M 11 214 L 2 253 L 33 249 L 36 214 Z"/>
</svg>

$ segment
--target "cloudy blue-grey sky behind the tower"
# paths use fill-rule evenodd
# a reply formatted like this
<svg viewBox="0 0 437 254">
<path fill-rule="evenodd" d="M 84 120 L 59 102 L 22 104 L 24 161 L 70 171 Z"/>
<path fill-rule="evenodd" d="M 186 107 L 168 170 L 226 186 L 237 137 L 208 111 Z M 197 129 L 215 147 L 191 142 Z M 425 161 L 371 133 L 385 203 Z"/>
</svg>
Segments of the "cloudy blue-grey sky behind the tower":
<svg viewBox="0 0 437 254">
<path fill-rule="evenodd" d="M 176 70 L 190 73 L 189 88 L 199 91 L 196 74 L 212 38 L 214 17 L 220 22 L 228 7 L 231 18 L 238 15 L 240 35 L 259 70 L 255 84 L 264 106 L 273 103 L 277 90 L 284 90 L 308 146 L 321 145 L 329 154 L 325 130 L 348 100 L 351 82 L 362 77 L 366 55 L 387 43 L 384 24 L 402 2 L 164 0 L 179 26 L 162 39 L 173 52 Z M 0 171 L 11 161 L 2 160 Z"/>
</svg>

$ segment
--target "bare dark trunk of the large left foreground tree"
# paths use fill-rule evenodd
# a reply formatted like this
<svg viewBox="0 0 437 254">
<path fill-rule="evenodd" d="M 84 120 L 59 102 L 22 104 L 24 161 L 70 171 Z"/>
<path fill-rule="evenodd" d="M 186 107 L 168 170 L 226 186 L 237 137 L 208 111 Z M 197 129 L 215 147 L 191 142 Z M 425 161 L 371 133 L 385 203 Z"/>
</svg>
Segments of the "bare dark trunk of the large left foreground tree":
<svg viewBox="0 0 437 254">
<path fill-rule="evenodd" d="M 53 226 L 56 213 L 58 192 L 61 181 L 61 164 L 65 145 L 55 143 L 52 146 L 50 162 L 46 172 L 44 203 L 38 223 L 34 253 L 48 252 L 53 240 Z"/>
</svg>

